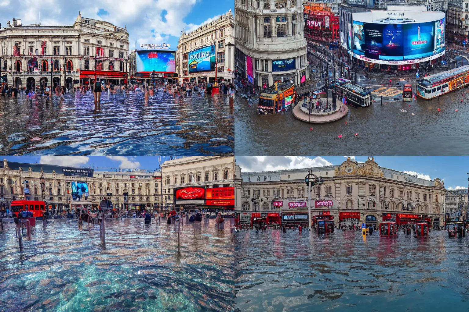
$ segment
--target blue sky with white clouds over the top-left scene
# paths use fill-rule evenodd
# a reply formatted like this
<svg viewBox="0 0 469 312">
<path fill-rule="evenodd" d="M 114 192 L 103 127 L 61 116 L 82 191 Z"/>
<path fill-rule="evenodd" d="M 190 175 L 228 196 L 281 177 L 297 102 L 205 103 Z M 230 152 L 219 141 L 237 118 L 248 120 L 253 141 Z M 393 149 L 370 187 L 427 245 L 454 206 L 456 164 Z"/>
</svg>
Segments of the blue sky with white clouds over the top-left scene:
<svg viewBox="0 0 469 312">
<path fill-rule="evenodd" d="M 177 49 L 182 29 L 191 31 L 231 9 L 234 0 L 0 0 L 0 23 L 13 18 L 23 24 L 73 25 L 82 17 L 104 20 L 129 32 L 130 49 L 138 43 L 166 43 Z"/>
</svg>

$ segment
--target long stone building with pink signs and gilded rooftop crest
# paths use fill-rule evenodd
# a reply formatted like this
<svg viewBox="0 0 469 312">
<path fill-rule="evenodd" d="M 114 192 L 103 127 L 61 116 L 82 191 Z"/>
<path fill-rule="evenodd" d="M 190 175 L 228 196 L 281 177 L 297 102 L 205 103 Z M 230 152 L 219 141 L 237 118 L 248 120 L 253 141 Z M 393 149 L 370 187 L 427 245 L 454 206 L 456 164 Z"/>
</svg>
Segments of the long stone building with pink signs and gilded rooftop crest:
<svg viewBox="0 0 469 312">
<path fill-rule="evenodd" d="M 439 178 L 420 179 L 379 167 L 373 158 L 357 163 L 348 158 L 340 166 L 314 167 L 324 180 L 311 191 L 304 182 L 309 168 L 271 172 L 242 172 L 241 194 L 236 212 L 243 224 L 270 223 L 308 225 L 308 220 L 333 219 L 334 225 L 398 224 L 426 220 L 443 225 L 446 189 Z M 240 207 L 241 206 L 241 207 Z"/>
</svg>

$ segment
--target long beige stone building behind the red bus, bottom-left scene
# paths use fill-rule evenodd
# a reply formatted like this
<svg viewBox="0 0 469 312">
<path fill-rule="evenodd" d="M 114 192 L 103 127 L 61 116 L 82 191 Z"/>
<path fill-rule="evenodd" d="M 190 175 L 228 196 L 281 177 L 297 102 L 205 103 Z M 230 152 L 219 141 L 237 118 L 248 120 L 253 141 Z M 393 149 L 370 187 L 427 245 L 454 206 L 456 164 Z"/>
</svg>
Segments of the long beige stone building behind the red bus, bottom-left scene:
<svg viewBox="0 0 469 312">
<path fill-rule="evenodd" d="M 88 193 L 77 198 L 73 194 L 74 182 L 86 184 Z M 4 159 L 0 163 L 0 209 L 8 208 L 14 200 L 25 199 L 25 188 L 30 200 L 45 201 L 59 210 L 69 210 L 72 204 L 80 203 L 98 207 L 103 199 L 109 199 L 120 210 L 158 209 L 162 199 L 158 171 L 105 172 Z"/>
</svg>

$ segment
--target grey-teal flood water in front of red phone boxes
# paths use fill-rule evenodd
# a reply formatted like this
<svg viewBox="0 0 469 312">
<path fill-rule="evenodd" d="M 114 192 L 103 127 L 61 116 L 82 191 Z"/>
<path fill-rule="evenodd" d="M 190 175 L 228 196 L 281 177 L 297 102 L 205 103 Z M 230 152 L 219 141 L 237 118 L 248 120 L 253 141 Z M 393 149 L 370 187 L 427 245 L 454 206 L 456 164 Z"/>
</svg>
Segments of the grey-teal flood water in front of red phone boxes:
<svg viewBox="0 0 469 312">
<path fill-rule="evenodd" d="M 240 231 L 236 312 L 468 311 L 469 237 Z"/>
</svg>

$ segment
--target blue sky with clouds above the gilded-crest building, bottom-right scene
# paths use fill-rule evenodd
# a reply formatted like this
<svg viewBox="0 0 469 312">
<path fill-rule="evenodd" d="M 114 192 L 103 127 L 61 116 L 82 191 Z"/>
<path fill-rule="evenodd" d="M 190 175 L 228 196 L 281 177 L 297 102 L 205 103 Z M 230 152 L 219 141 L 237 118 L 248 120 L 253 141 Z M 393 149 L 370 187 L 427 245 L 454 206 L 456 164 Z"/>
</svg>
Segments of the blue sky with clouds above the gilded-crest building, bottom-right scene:
<svg viewBox="0 0 469 312">
<path fill-rule="evenodd" d="M 347 156 L 236 156 L 236 163 L 243 172 L 281 170 L 340 165 Z M 368 156 L 350 156 L 358 162 L 365 162 Z M 381 167 L 417 174 L 420 178 L 440 178 L 446 189 L 467 189 L 469 157 L 416 157 L 376 156 Z"/>
</svg>

